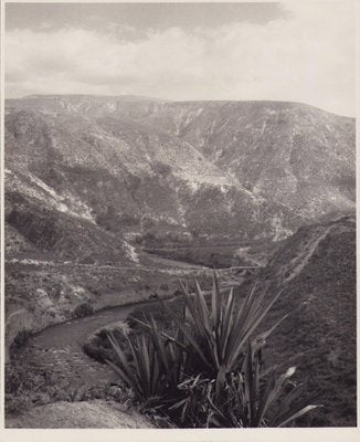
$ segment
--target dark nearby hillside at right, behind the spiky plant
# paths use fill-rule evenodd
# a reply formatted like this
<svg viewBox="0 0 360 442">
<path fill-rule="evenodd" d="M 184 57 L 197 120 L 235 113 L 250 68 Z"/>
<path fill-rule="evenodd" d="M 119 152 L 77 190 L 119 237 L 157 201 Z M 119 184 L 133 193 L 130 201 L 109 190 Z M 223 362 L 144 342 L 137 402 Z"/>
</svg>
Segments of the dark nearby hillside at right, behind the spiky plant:
<svg viewBox="0 0 360 442">
<path fill-rule="evenodd" d="M 262 277 L 272 293 L 284 290 L 269 323 L 290 312 L 269 338 L 266 360 L 297 366 L 307 393 L 324 404 L 301 424 L 356 425 L 354 218 L 299 229 Z"/>
</svg>

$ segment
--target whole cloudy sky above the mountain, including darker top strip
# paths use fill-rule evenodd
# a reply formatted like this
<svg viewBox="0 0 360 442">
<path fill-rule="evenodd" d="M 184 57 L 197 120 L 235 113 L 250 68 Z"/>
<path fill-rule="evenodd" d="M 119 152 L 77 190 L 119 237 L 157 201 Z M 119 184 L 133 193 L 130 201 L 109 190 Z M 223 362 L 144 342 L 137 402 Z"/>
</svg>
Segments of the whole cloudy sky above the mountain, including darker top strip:
<svg viewBox="0 0 360 442">
<path fill-rule="evenodd" d="M 351 0 L 8 3 L 7 97 L 276 99 L 354 115 Z"/>
</svg>

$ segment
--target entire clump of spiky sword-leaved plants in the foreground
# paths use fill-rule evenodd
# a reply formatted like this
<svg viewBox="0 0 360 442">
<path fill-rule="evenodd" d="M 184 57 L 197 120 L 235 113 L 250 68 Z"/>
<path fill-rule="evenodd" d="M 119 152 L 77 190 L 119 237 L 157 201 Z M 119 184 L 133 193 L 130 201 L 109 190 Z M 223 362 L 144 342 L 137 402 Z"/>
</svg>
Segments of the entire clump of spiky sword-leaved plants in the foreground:
<svg viewBox="0 0 360 442">
<path fill-rule="evenodd" d="M 215 274 L 210 306 L 197 281 L 194 288 L 182 286 L 181 317 L 162 303 L 171 318 L 167 332 L 149 316 L 134 319 L 147 333 L 126 336 L 126 346 L 108 334 L 116 358 L 107 362 L 138 402 L 197 428 L 283 427 L 317 407 L 299 400 L 301 388 L 289 381 L 295 367 L 280 376 L 263 369 L 262 349 L 286 316 L 256 330 L 280 294 L 267 301 L 253 287 L 236 309 Z"/>
</svg>

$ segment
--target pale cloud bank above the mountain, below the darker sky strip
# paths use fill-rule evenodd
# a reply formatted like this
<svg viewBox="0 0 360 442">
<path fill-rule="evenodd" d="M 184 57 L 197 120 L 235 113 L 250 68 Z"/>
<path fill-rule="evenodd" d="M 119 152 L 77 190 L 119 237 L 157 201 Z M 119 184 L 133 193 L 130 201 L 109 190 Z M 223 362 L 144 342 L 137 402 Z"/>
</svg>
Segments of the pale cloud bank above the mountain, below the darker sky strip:
<svg viewBox="0 0 360 442">
<path fill-rule="evenodd" d="M 6 35 L 7 96 L 131 94 L 283 99 L 354 113 L 352 3 L 287 4 L 267 24 L 162 31 L 18 29 Z"/>
</svg>

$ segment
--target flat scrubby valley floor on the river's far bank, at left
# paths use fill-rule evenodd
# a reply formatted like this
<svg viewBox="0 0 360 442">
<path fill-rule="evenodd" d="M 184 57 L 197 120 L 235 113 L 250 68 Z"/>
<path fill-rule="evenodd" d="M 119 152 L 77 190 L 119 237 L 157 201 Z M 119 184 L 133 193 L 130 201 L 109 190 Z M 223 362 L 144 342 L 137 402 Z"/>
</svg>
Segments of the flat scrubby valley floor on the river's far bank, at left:
<svg viewBox="0 0 360 442">
<path fill-rule="evenodd" d="M 161 259 L 160 259 L 161 260 Z M 19 333 L 38 333 L 89 312 L 133 302 L 172 296 L 179 278 L 211 277 L 211 270 L 177 262 L 153 262 L 152 266 L 91 265 L 75 262 L 8 260 L 6 263 L 6 360 Z M 208 275 L 208 276 L 207 276 Z"/>
</svg>

